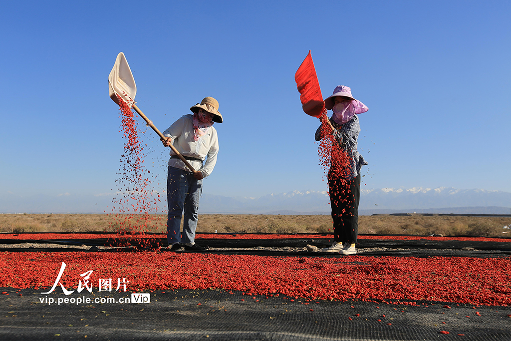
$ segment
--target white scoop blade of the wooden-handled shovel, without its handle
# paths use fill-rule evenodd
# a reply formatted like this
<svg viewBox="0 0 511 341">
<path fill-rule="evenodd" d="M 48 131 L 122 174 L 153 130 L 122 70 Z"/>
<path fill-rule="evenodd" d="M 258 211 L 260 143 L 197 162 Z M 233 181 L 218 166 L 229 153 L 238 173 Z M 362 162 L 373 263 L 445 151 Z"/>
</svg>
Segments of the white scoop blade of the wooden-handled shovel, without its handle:
<svg viewBox="0 0 511 341">
<path fill-rule="evenodd" d="M 129 68 L 128 61 L 122 52 L 117 55 L 112 71 L 108 75 L 108 92 L 110 93 L 110 98 L 117 104 L 119 104 L 117 95 L 121 96 L 130 107 L 135 103 L 135 79 Z"/>
</svg>

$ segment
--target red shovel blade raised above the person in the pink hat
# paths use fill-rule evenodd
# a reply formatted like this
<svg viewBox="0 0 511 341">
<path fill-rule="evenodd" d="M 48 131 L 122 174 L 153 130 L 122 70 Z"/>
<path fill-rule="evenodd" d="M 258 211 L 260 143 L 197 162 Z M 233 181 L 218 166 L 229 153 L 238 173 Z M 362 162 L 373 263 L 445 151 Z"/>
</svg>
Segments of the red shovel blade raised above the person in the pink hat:
<svg viewBox="0 0 511 341">
<path fill-rule="evenodd" d="M 294 80 L 300 93 L 300 101 L 304 112 L 313 117 L 321 116 L 324 110 L 324 101 L 310 50 L 304 62 L 298 67 Z"/>
</svg>

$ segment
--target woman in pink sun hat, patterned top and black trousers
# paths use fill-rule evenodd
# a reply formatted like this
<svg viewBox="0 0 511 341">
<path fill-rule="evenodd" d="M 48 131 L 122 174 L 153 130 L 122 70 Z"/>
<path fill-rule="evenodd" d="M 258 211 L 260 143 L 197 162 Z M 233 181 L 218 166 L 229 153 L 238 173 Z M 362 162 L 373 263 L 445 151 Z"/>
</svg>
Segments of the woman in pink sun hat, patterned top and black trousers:
<svg viewBox="0 0 511 341">
<path fill-rule="evenodd" d="M 357 151 L 360 125 L 356 114 L 368 108 L 353 98 L 350 87 L 343 85 L 337 86 L 324 102 L 327 110 L 333 110 L 333 115 L 330 119 L 324 114 L 320 117 L 322 124 L 315 138 L 316 141 L 323 138 L 332 141 L 328 185 L 335 242 L 321 251 L 353 255 L 357 253 L 360 169 L 367 165 Z"/>
</svg>

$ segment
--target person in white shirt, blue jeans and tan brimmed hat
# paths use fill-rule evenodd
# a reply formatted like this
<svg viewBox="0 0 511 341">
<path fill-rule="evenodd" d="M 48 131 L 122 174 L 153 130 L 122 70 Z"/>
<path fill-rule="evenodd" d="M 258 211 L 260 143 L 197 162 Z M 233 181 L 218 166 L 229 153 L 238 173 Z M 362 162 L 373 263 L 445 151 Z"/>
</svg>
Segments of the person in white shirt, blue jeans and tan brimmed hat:
<svg viewBox="0 0 511 341">
<path fill-rule="evenodd" d="M 163 145 L 173 145 L 197 171 L 193 173 L 173 152 L 170 152 L 167 177 L 167 239 L 170 249 L 207 250 L 207 246 L 195 243 L 199 198 L 202 193 L 202 179 L 211 174 L 217 162 L 218 137 L 213 123 L 222 123 L 218 112 L 218 101 L 206 97 L 192 106 L 193 115 L 184 115 L 163 132 L 167 139 Z M 206 159 L 207 156 L 207 159 Z M 205 160 L 206 159 L 206 160 Z M 204 163 L 205 160 L 205 163 Z M 181 214 L 184 210 L 183 233 L 181 238 Z M 182 244 L 181 244 L 182 243 Z"/>
</svg>

